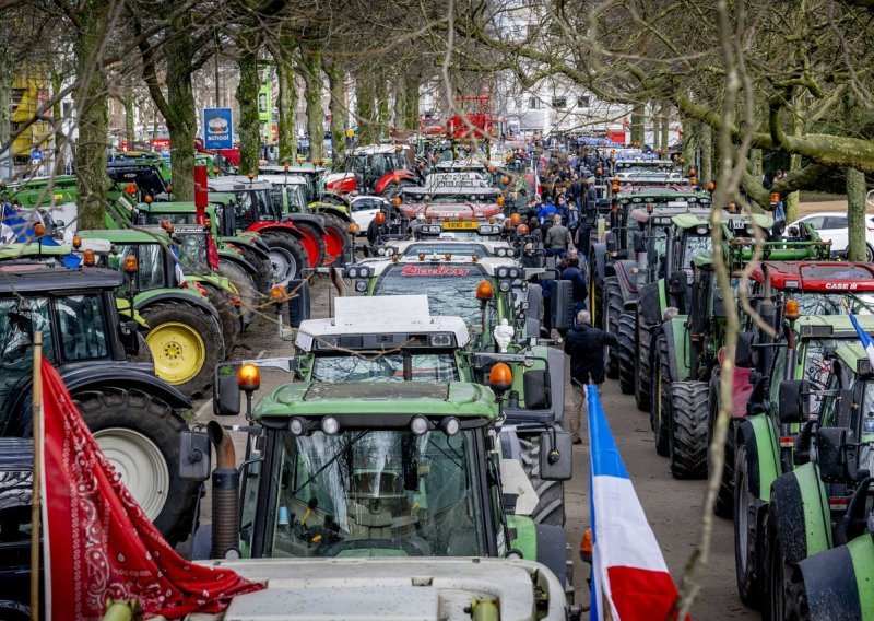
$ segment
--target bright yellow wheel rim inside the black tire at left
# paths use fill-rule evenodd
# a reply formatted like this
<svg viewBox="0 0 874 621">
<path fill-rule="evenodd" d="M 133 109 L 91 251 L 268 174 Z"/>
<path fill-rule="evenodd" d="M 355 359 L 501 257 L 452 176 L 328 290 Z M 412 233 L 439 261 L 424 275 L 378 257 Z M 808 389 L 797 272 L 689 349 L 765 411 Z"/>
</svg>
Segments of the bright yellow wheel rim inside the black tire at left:
<svg viewBox="0 0 874 621">
<path fill-rule="evenodd" d="M 178 386 L 193 379 L 206 361 L 206 348 L 200 335 L 186 324 L 169 321 L 150 330 L 145 337 L 155 375 Z"/>
</svg>

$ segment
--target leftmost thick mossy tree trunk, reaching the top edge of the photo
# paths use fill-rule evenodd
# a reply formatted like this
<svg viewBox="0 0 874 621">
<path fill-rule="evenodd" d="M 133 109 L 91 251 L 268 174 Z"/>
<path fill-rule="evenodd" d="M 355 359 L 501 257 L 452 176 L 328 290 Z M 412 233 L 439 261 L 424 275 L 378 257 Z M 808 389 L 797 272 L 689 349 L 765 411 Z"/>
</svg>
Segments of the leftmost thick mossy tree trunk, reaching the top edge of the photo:
<svg viewBox="0 0 874 621">
<path fill-rule="evenodd" d="M 99 47 L 106 30 L 106 8 L 88 2 L 79 20 L 79 33 L 73 42 L 76 74 L 82 83 L 75 92 L 79 140 L 75 165 L 79 189 L 79 229 L 103 229 L 106 214 L 106 150 L 109 115 L 103 68 L 98 62 Z"/>
</svg>

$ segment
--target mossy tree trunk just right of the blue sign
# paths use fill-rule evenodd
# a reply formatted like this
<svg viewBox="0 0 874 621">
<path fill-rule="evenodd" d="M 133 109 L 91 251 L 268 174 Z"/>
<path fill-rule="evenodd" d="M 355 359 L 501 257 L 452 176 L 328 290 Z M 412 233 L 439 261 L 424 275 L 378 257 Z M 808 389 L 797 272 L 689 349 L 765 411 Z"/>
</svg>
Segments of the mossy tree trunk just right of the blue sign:
<svg viewBox="0 0 874 621">
<path fill-rule="evenodd" d="M 261 120 L 258 117 L 258 48 L 257 35 L 240 34 L 237 45 L 240 48 L 237 65 L 239 84 L 237 104 L 239 105 L 239 171 L 241 174 L 258 173 L 261 159 Z"/>
</svg>

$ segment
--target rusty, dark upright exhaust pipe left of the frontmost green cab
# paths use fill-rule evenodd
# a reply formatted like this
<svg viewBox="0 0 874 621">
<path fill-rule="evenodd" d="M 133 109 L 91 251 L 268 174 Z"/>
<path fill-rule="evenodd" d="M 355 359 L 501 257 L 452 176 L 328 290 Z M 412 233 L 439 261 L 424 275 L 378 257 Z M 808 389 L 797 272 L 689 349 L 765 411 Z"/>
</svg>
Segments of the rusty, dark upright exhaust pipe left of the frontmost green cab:
<svg viewBox="0 0 874 621">
<path fill-rule="evenodd" d="M 239 471 L 234 441 L 217 422 L 206 432 L 215 447 L 217 467 L 212 471 L 212 542 L 210 559 L 239 558 Z"/>
</svg>

